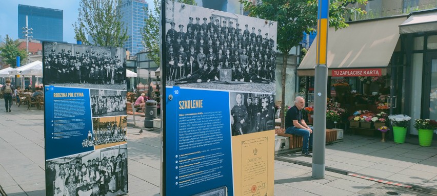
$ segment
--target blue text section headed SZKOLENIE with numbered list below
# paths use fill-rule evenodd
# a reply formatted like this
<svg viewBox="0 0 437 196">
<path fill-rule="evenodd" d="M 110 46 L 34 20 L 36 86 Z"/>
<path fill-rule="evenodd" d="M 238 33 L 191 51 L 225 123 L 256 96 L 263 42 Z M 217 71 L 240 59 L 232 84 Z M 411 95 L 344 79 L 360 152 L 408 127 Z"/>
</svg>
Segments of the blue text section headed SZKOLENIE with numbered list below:
<svg viewBox="0 0 437 196">
<path fill-rule="evenodd" d="M 166 195 L 217 185 L 233 195 L 229 93 L 175 86 L 166 94 Z"/>
</svg>

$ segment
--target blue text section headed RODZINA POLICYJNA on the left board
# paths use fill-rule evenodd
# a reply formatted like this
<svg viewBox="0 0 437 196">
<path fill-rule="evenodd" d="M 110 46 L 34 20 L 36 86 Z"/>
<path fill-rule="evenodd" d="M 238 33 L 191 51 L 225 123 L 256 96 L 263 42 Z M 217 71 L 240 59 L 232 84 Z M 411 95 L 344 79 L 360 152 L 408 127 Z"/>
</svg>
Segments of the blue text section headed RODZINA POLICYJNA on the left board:
<svg viewBox="0 0 437 196">
<path fill-rule="evenodd" d="M 46 86 L 45 93 L 46 159 L 94 150 L 82 145 L 92 132 L 89 90 Z"/>
</svg>

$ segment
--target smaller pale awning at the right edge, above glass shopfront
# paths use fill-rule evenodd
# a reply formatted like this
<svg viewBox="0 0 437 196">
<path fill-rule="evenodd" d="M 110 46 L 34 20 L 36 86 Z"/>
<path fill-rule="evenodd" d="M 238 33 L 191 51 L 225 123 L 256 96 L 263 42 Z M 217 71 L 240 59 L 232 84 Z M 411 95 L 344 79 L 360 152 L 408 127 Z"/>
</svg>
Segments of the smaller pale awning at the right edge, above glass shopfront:
<svg viewBox="0 0 437 196">
<path fill-rule="evenodd" d="M 414 12 L 399 26 L 399 33 L 437 31 L 437 9 Z"/>
</svg>

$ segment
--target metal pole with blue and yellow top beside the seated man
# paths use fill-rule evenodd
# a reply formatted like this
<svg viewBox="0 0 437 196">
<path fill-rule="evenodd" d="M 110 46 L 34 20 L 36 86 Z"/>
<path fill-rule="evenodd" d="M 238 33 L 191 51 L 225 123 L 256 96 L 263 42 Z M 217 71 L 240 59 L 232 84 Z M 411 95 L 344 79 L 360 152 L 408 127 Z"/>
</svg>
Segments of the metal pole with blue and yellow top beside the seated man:
<svg viewBox="0 0 437 196">
<path fill-rule="evenodd" d="M 317 55 L 314 84 L 314 146 L 312 157 L 312 177 L 325 178 L 325 138 L 326 138 L 326 97 L 328 67 L 326 65 L 328 43 L 329 0 L 319 0 L 317 12 Z"/>
</svg>

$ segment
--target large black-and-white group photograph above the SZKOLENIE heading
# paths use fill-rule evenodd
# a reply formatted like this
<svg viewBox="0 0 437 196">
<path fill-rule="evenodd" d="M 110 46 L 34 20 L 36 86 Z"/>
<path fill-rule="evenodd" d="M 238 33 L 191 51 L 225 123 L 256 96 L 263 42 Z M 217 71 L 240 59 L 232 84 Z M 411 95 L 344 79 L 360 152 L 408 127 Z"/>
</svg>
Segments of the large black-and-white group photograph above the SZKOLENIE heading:
<svg viewBox="0 0 437 196">
<path fill-rule="evenodd" d="M 166 6 L 166 85 L 274 93 L 276 22 L 171 4 Z"/>
</svg>

